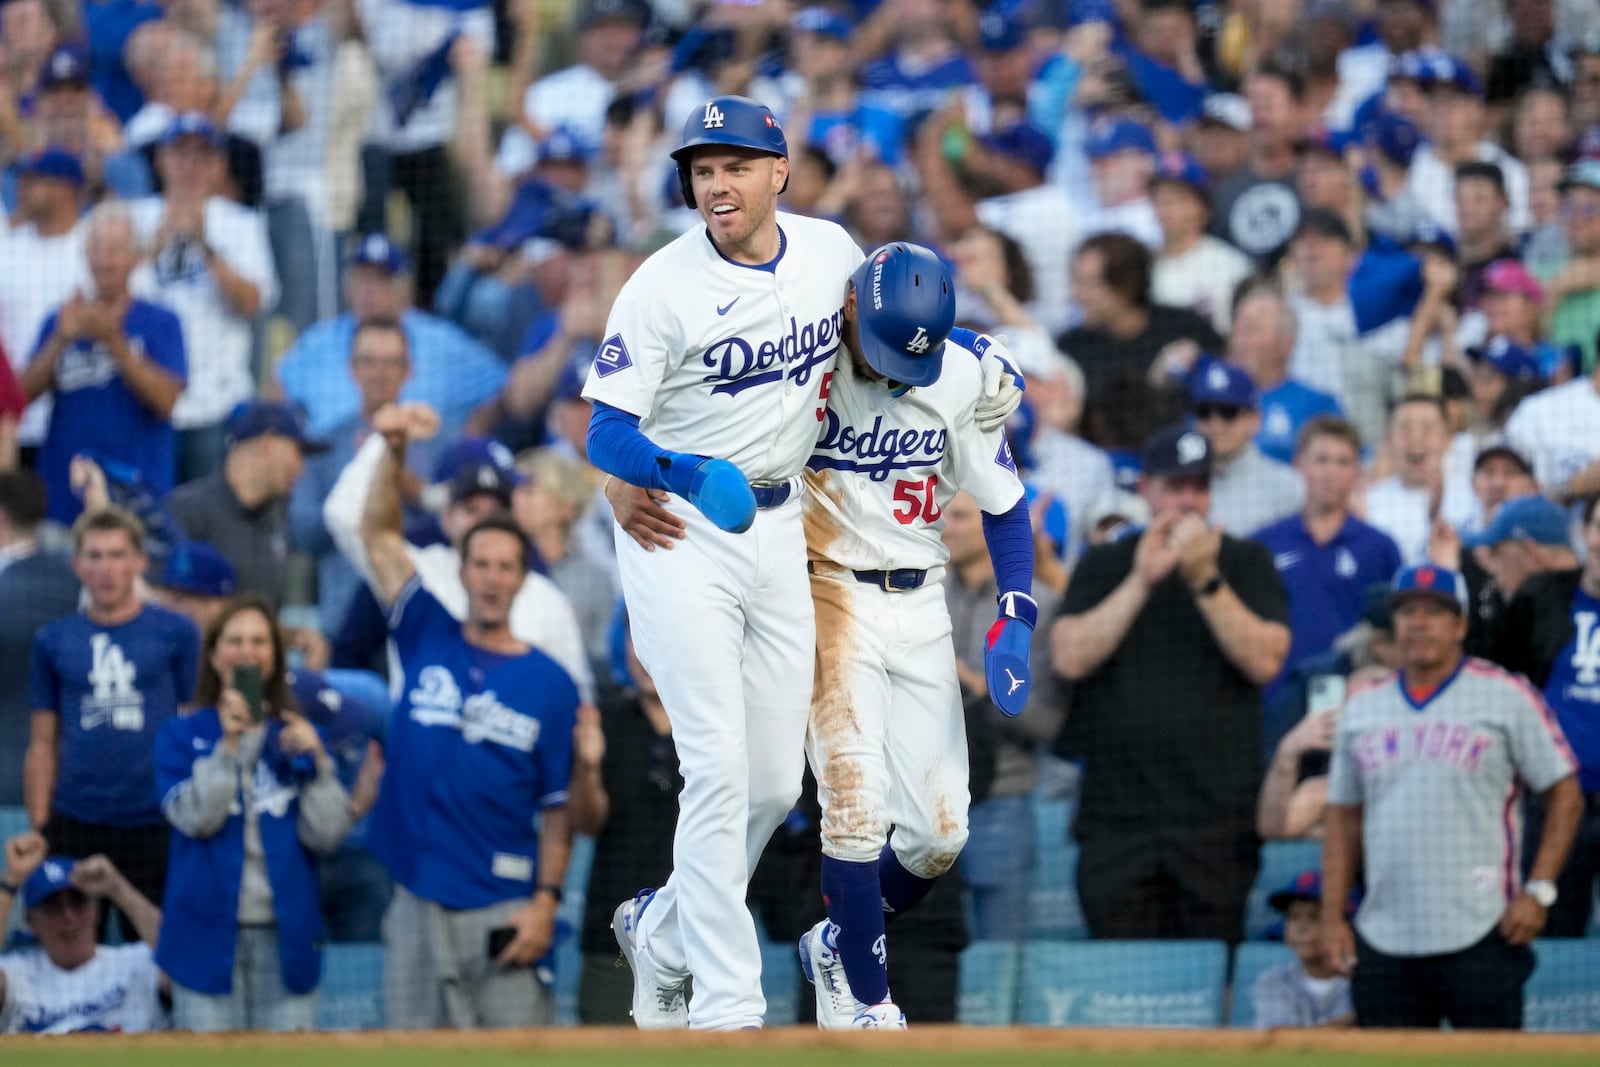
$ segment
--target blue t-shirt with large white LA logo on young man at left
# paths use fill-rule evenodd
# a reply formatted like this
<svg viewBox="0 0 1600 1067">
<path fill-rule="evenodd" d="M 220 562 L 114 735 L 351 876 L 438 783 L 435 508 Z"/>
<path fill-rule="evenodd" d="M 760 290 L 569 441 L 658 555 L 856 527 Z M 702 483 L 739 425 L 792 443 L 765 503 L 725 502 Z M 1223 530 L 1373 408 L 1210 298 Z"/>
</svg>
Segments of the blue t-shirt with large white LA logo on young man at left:
<svg viewBox="0 0 1600 1067">
<path fill-rule="evenodd" d="M 155 605 L 120 625 L 78 613 L 42 629 L 29 694 L 61 718 L 50 809 L 98 825 L 162 824 L 155 734 L 194 696 L 198 669 L 195 624 Z"/>
</svg>

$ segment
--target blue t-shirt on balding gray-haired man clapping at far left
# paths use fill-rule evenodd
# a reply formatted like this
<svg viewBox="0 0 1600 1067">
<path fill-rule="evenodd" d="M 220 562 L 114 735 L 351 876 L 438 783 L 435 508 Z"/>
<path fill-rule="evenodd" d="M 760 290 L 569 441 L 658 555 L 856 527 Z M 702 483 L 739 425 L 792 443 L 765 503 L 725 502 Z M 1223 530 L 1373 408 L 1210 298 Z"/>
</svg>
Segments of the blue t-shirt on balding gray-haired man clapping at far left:
<svg viewBox="0 0 1600 1067">
<path fill-rule="evenodd" d="M 178 317 L 158 304 L 133 301 L 123 320 L 136 355 L 174 374 L 189 378 L 184 331 Z M 45 320 L 34 344 L 37 354 L 56 331 L 56 314 Z M 38 474 L 45 478 L 50 517 L 70 523 L 83 510 L 67 472 L 72 458 L 94 451 L 138 469 L 144 486 L 160 499 L 173 488 L 176 437 L 168 419 L 157 418 L 122 381 L 117 362 L 101 342 L 78 341 L 61 354 L 50 384 L 54 410 L 38 450 Z"/>
</svg>

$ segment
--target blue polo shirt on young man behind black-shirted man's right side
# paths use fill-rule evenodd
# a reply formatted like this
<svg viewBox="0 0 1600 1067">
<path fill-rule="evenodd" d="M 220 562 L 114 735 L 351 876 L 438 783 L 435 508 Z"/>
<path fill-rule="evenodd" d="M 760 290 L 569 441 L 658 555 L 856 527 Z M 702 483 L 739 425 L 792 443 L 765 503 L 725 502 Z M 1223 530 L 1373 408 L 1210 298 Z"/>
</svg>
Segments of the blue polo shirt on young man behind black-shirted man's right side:
<svg viewBox="0 0 1600 1067">
<path fill-rule="evenodd" d="M 1272 699 L 1296 665 L 1333 648 L 1366 608 L 1366 590 L 1387 584 L 1400 569 L 1400 549 L 1389 534 L 1355 517 L 1328 544 L 1317 544 L 1299 515 L 1256 531 L 1272 552 L 1272 566 L 1290 593 L 1290 654 L 1262 696 Z"/>
</svg>

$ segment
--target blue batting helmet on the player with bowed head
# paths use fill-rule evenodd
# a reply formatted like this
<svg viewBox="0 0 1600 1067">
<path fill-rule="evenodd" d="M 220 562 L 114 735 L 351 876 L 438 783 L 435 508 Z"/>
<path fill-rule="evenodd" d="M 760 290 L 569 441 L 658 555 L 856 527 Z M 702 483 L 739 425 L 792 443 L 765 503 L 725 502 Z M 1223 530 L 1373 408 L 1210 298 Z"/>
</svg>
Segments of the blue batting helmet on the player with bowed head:
<svg viewBox="0 0 1600 1067">
<path fill-rule="evenodd" d="M 867 366 L 901 386 L 931 386 L 944 366 L 944 339 L 955 325 L 950 269 L 922 245 L 877 248 L 850 275 Z"/>
</svg>

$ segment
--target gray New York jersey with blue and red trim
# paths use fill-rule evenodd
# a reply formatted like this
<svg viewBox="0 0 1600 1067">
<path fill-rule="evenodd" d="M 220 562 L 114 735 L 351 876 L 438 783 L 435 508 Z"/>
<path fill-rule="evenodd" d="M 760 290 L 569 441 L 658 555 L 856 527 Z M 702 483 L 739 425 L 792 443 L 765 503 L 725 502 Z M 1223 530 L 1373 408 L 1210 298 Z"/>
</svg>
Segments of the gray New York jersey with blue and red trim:
<svg viewBox="0 0 1600 1067">
<path fill-rule="evenodd" d="M 1421 704 L 1398 675 L 1358 689 L 1328 803 L 1363 809 L 1362 937 L 1403 957 L 1482 939 L 1522 889 L 1522 785 L 1542 793 L 1576 768 L 1539 694 L 1486 661 L 1464 659 Z"/>
</svg>

